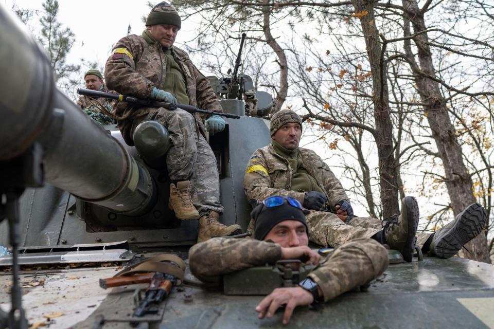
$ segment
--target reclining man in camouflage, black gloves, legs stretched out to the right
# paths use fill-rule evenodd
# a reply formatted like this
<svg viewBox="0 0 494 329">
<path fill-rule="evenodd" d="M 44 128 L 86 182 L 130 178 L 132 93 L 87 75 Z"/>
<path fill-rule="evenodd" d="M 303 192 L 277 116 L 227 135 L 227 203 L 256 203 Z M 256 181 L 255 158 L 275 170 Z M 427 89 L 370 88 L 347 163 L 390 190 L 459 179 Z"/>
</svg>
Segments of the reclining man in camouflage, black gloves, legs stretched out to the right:
<svg viewBox="0 0 494 329">
<path fill-rule="evenodd" d="M 295 112 L 273 115 L 270 134 L 271 143 L 254 152 L 247 166 L 244 188 L 249 198 L 283 195 L 297 199 L 311 210 L 306 216 L 309 239 L 318 245 L 338 247 L 371 238 L 400 251 L 405 261 L 412 261 L 419 219 L 415 198 L 403 198 L 401 214 L 383 222 L 354 217 L 345 190 L 326 163 L 313 151 L 298 147 L 302 121 Z M 338 214 L 346 216 L 345 223 Z M 449 258 L 477 236 L 486 222 L 484 208 L 472 204 L 439 231 L 420 233 L 418 242 L 422 251 Z"/>
</svg>

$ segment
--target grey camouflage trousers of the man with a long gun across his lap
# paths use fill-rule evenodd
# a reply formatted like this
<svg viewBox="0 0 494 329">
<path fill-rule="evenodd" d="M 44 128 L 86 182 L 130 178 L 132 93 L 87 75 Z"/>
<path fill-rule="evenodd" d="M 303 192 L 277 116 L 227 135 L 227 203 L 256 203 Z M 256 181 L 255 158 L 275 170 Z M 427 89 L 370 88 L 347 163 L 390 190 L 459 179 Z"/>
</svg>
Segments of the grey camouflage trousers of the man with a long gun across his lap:
<svg viewBox="0 0 494 329">
<path fill-rule="evenodd" d="M 173 111 L 160 107 L 150 109 L 143 117 L 134 119 L 135 127 L 147 120 L 163 124 L 170 135 L 166 155 L 168 176 L 171 180 L 190 180 L 192 202 L 199 214 L 209 210 L 223 212 L 220 204 L 220 183 L 216 158 L 202 134 L 196 130 L 192 114 L 177 108 Z"/>
</svg>

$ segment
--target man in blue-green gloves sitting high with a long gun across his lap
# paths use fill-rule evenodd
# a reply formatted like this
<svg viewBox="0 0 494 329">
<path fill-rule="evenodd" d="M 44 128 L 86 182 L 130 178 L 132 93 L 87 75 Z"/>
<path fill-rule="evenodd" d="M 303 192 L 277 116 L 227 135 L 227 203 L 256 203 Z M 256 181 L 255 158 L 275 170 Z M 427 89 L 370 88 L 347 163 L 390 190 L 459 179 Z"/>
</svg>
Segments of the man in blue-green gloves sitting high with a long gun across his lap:
<svg viewBox="0 0 494 329">
<path fill-rule="evenodd" d="M 105 65 L 108 86 L 121 94 L 173 104 L 190 104 L 222 112 L 208 80 L 192 64 L 187 53 L 173 46 L 181 27 L 177 11 L 168 3 L 153 7 L 142 35 L 120 39 Z M 136 107 L 121 102 L 115 114 L 122 119 L 118 127 L 123 138 L 133 145 L 133 132 L 143 121 L 155 120 L 170 134 L 171 147 L 166 156 L 171 179 L 169 207 L 181 220 L 199 218 L 198 241 L 241 232 L 239 225 L 226 227 L 218 222 L 223 207 L 219 202 L 219 177 L 216 159 L 204 137 L 221 132 L 223 119 L 210 116 L 203 124 L 199 114 L 180 108 Z"/>
</svg>

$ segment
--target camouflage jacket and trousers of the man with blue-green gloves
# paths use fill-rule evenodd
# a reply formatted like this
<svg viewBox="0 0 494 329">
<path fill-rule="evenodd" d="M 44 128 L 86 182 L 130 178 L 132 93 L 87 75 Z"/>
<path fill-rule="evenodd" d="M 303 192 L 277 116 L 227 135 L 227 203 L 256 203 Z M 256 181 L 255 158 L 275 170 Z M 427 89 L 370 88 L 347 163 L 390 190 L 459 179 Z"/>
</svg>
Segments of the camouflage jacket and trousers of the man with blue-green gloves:
<svg viewBox="0 0 494 329">
<path fill-rule="evenodd" d="M 105 65 L 105 78 L 110 88 L 121 94 L 150 99 L 153 88 L 162 88 L 166 80 L 166 56 L 160 43 L 147 42 L 143 36 L 128 35 L 120 39 Z M 180 66 L 190 105 L 222 112 L 208 80 L 192 64 L 187 53 L 177 47 L 171 50 Z M 199 114 L 181 109 L 137 107 L 121 102 L 115 109 L 123 138 L 133 145 L 132 133 L 138 123 L 156 120 L 170 133 L 172 147 L 167 153 L 167 167 L 172 180 L 190 180 L 197 195 L 192 198 L 201 215 L 223 211 L 219 203 L 219 177 L 216 158 L 207 144 L 204 124 Z"/>
</svg>

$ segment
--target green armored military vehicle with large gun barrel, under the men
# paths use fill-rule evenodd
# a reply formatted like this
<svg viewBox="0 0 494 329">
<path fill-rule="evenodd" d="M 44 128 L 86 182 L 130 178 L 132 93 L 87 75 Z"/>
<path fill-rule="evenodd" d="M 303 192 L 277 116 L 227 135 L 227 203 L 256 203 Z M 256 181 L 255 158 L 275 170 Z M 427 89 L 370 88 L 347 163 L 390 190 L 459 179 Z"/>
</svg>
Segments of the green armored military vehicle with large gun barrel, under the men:
<svg viewBox="0 0 494 329">
<path fill-rule="evenodd" d="M 257 318 L 259 294 L 296 283 L 304 268 L 256 268 L 225 277 L 220 288 L 186 272 L 181 286 L 138 318 L 133 314 L 148 284 L 100 287 L 100 279 L 142 259 L 172 253 L 186 260 L 196 242 L 197 221 L 173 217 L 168 178 L 153 166 L 159 161 L 153 143 L 163 142 L 166 132 L 150 123 L 151 133 L 144 135 L 154 137 L 129 147 L 114 126 L 102 127 L 83 114 L 55 87 L 43 51 L 2 7 L 0 44 L 8 82 L 0 88 L 0 245 L 13 253 L 0 257 L 0 326 L 280 326 L 279 315 Z M 267 121 L 260 117 L 269 114 L 272 99 L 255 92 L 252 80 L 236 70 L 211 85 L 224 111 L 240 116 L 227 119 L 225 130 L 209 139 L 225 207 L 220 220 L 245 230 L 245 164 L 269 142 Z M 394 256 L 396 264 L 366 292 L 344 294 L 316 309 L 300 307 L 287 327 L 494 327 L 494 266 L 460 258 L 402 263 Z"/>
</svg>

